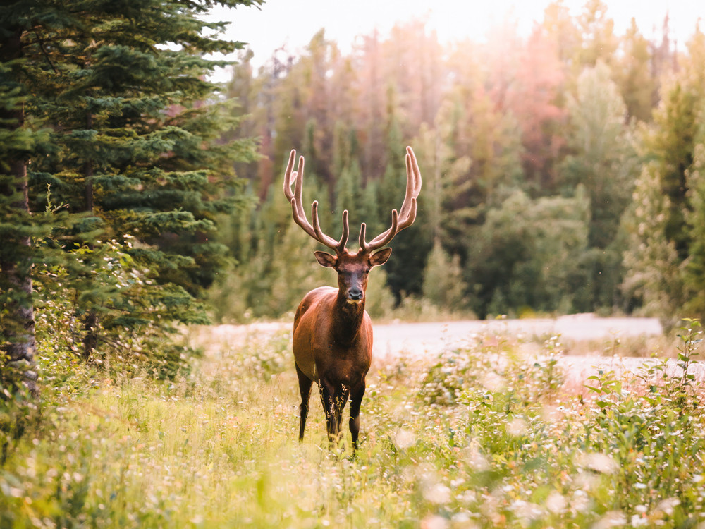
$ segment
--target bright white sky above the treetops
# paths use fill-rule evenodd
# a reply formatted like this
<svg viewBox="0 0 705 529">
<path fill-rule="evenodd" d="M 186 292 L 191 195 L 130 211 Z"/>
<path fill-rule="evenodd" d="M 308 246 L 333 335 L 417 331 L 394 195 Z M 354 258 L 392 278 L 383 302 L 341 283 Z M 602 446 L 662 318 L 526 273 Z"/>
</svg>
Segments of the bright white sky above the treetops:
<svg viewBox="0 0 705 529">
<path fill-rule="evenodd" d="M 304 47 L 325 28 L 326 37 L 349 51 L 355 37 L 377 28 L 384 35 L 399 21 L 424 18 L 441 42 L 470 37 L 481 41 L 487 30 L 501 23 L 507 13 L 517 22 L 521 35 L 528 35 L 534 21 L 543 18 L 550 0 L 266 0 L 254 7 L 220 9 L 214 20 L 231 21 L 226 37 L 248 42 L 259 66 L 272 52 L 286 44 L 290 51 Z M 564 0 L 572 14 L 580 13 L 584 0 Z M 608 16 L 621 35 L 636 18 L 642 34 L 661 37 L 663 16 L 668 12 L 670 29 L 680 46 L 692 35 L 699 18 L 705 25 L 705 0 L 605 0 Z M 227 77 L 227 75 L 226 75 Z M 225 80 L 225 79 L 218 79 Z"/>
</svg>

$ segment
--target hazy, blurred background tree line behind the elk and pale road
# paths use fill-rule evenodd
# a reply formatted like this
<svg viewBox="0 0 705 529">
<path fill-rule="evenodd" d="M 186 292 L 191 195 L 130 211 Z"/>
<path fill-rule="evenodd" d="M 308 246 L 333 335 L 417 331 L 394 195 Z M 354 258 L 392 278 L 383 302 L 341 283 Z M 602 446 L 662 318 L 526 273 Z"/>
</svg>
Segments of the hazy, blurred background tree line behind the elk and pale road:
<svg viewBox="0 0 705 529">
<path fill-rule="evenodd" d="M 412 20 L 349 54 L 321 30 L 256 72 L 242 52 L 227 95 L 247 118 L 231 135 L 260 138 L 262 157 L 235 165 L 254 200 L 221 234 L 236 264 L 216 314 L 278 316 L 331 280 L 281 193 L 291 148 L 324 229 L 349 209 L 351 226 L 381 230 L 412 145 L 421 211 L 375 271 L 373 312 L 701 315 L 704 50 L 699 28 L 671 39 L 667 17 L 658 41 L 633 20 L 616 35 L 588 0 L 577 16 L 549 4 L 526 38 L 508 20 L 487 42 L 443 46 Z"/>
</svg>

